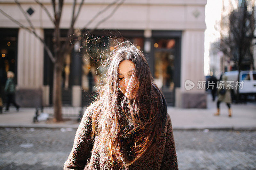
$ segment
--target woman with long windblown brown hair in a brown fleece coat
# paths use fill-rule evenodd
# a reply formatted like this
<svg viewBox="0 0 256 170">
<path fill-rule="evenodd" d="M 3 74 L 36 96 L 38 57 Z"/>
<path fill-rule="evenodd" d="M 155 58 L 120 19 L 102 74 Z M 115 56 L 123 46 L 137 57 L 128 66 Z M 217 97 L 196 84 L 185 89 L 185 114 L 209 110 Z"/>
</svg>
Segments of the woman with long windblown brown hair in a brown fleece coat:
<svg viewBox="0 0 256 170">
<path fill-rule="evenodd" d="M 127 42 L 111 56 L 64 169 L 178 169 L 167 105 L 145 56 Z"/>
</svg>

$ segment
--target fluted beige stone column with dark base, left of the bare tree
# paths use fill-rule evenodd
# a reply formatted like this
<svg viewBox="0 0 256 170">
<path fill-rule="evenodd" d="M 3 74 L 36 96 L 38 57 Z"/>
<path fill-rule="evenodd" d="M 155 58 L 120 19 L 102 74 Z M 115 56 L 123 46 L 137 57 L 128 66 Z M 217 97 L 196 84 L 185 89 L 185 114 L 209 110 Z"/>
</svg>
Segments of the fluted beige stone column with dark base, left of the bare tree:
<svg viewBox="0 0 256 170">
<path fill-rule="evenodd" d="M 43 29 L 36 29 L 44 37 Z M 25 29 L 18 33 L 17 103 L 22 107 L 42 105 L 44 46 Z"/>
</svg>

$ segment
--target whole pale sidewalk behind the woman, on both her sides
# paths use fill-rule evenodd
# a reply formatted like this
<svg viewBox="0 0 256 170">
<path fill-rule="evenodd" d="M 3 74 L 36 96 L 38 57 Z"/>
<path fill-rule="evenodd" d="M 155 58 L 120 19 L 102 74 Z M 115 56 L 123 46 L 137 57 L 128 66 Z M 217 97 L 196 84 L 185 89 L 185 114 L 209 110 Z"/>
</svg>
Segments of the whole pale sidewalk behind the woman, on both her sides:
<svg viewBox="0 0 256 170">
<path fill-rule="evenodd" d="M 223 129 L 223 130 L 256 130 L 256 104 L 233 104 L 233 116 L 228 117 L 228 107 L 220 104 L 220 116 L 214 116 L 216 102 L 212 102 L 210 94 L 207 96 L 207 109 L 182 109 L 168 107 L 168 113 L 172 119 L 173 129 Z M 33 123 L 35 108 L 20 108 L 16 112 L 14 107 L 9 112 L 0 114 L 0 127 L 28 127 L 28 128 L 77 128 L 79 123 L 79 109 L 77 107 L 65 107 L 63 115 L 69 113 L 70 121 L 62 123 Z M 44 109 L 44 112 L 52 112 L 52 108 Z M 65 116 L 64 116 L 65 117 Z M 206 130 L 207 131 L 207 130 Z"/>
</svg>

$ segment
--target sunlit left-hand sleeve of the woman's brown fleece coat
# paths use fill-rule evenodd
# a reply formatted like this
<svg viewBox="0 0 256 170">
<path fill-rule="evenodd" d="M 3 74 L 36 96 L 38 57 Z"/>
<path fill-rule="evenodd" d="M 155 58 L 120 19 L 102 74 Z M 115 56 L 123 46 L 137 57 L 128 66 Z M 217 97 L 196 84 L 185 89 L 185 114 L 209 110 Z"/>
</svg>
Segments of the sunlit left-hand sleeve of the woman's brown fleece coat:
<svg viewBox="0 0 256 170">
<path fill-rule="evenodd" d="M 73 148 L 68 156 L 68 160 L 64 164 L 64 170 L 67 169 L 84 169 L 87 160 L 91 158 L 93 141 L 91 139 L 92 132 L 92 112 L 95 104 L 87 107 L 83 118 L 76 131 Z"/>
</svg>

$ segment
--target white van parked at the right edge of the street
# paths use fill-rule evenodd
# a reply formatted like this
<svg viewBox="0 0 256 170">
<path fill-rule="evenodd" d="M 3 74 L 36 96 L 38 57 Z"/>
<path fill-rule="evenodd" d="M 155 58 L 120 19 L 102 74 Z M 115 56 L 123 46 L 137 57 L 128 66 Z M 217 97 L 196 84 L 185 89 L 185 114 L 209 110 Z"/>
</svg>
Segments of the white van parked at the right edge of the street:
<svg viewBox="0 0 256 170">
<path fill-rule="evenodd" d="M 236 94 L 236 81 L 238 80 L 238 71 L 228 71 L 224 75 L 228 77 L 228 81 L 234 81 L 233 92 Z M 256 70 L 240 71 L 239 82 L 244 82 L 239 87 L 239 93 L 243 95 L 256 95 Z M 256 97 L 256 96 L 255 96 Z"/>
</svg>

